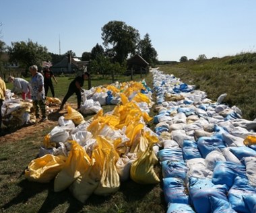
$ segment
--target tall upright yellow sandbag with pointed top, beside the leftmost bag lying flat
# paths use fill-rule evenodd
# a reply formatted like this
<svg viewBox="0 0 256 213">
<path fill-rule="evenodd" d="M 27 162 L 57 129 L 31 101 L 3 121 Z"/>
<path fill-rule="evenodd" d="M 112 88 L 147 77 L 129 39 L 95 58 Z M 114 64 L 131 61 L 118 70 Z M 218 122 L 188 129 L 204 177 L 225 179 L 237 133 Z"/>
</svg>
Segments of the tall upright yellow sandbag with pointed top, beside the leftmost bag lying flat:
<svg viewBox="0 0 256 213">
<path fill-rule="evenodd" d="M 92 165 L 91 159 L 84 148 L 75 140 L 69 142 L 72 144 L 72 148 L 63 169 L 55 177 L 54 191 L 62 191 L 69 187 L 77 177 L 83 175 L 88 167 Z"/>
</svg>

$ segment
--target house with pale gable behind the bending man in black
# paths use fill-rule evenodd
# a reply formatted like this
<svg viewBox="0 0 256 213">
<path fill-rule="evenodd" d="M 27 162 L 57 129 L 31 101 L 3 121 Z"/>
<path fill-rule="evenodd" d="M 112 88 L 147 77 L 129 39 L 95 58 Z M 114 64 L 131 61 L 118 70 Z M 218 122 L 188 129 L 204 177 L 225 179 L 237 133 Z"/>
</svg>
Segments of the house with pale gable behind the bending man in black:
<svg viewBox="0 0 256 213">
<path fill-rule="evenodd" d="M 69 59 L 68 56 L 65 56 L 60 62 L 53 65 L 51 67 L 51 70 L 55 75 L 60 74 L 75 74 L 79 71 L 86 70 L 87 66 L 89 64 L 89 61 L 81 61 L 78 58 L 71 58 Z"/>
</svg>

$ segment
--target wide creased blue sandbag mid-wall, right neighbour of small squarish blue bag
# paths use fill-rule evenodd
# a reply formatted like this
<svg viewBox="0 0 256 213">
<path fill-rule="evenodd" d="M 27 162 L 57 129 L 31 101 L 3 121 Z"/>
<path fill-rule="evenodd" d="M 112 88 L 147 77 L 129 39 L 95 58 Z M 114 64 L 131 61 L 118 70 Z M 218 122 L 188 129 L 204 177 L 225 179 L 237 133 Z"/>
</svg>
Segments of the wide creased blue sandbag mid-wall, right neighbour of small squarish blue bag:
<svg viewBox="0 0 256 213">
<path fill-rule="evenodd" d="M 204 159 L 210 152 L 226 147 L 225 142 L 216 136 L 198 138 L 197 146 Z"/>
</svg>

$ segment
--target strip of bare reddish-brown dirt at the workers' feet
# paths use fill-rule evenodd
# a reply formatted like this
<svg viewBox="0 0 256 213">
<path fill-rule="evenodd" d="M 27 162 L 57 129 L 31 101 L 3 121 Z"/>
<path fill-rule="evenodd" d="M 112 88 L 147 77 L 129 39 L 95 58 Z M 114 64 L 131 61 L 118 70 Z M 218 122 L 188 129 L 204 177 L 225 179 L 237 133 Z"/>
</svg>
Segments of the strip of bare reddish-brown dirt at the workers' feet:
<svg viewBox="0 0 256 213">
<path fill-rule="evenodd" d="M 72 108 L 75 108 L 75 105 L 72 105 L 71 103 L 69 103 L 69 105 L 71 105 Z M 49 126 L 50 128 L 54 128 L 55 126 L 57 126 L 59 117 L 67 113 L 67 110 L 59 111 L 59 106 L 55 105 L 51 105 L 49 106 L 49 108 L 53 112 L 48 114 L 48 120 L 44 122 L 39 122 L 40 119 L 38 119 L 35 124 L 26 124 L 23 126 L 18 126 L 16 128 L 2 129 L 0 135 L 0 143 L 22 140 L 30 136 L 31 134 L 34 134 L 34 132 L 37 132 L 40 129 L 42 130 L 43 128 L 45 128 L 45 126 Z"/>
</svg>

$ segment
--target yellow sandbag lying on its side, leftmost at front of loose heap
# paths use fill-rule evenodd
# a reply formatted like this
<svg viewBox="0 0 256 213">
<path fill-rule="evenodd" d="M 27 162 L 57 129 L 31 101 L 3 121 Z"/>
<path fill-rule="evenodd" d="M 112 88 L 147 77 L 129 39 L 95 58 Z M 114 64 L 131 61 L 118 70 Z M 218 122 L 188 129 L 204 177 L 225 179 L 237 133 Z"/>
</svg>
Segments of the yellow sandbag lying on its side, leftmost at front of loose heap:
<svg viewBox="0 0 256 213">
<path fill-rule="evenodd" d="M 30 181 L 48 183 L 61 171 L 66 159 L 63 155 L 50 154 L 34 159 L 25 170 L 25 177 Z"/>
</svg>

